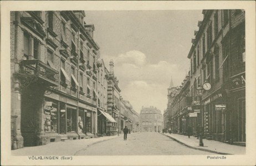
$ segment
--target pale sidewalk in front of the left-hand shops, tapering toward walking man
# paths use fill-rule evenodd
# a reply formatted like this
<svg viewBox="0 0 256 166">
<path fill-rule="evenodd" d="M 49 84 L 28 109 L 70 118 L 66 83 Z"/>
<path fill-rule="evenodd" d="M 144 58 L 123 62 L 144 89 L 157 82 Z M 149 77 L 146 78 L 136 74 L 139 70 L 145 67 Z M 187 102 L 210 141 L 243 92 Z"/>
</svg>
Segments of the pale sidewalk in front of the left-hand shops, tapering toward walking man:
<svg viewBox="0 0 256 166">
<path fill-rule="evenodd" d="M 95 143 L 107 141 L 109 139 L 120 138 L 119 136 L 104 136 L 99 138 L 77 139 L 65 142 L 51 142 L 43 146 L 24 147 L 17 150 L 12 150 L 12 155 L 75 155 L 76 152 L 89 147 Z"/>
</svg>

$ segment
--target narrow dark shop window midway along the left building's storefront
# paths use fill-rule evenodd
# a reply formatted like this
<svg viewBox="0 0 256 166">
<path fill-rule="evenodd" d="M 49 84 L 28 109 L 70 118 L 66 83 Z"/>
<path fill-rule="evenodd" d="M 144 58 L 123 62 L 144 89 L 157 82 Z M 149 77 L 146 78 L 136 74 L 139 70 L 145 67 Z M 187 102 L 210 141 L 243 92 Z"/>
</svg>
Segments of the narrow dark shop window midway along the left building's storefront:
<svg viewBox="0 0 256 166">
<path fill-rule="evenodd" d="M 66 109 L 66 131 L 75 132 L 76 131 L 76 110 L 67 108 Z"/>
</svg>

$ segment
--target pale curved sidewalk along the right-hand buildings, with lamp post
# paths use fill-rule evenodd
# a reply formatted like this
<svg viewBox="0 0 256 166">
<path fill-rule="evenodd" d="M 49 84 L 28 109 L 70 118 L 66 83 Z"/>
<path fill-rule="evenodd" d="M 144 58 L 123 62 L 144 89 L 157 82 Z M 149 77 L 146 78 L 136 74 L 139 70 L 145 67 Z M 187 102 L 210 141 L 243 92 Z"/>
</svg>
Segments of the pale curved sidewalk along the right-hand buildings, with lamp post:
<svg viewBox="0 0 256 166">
<path fill-rule="evenodd" d="M 183 136 L 181 134 L 169 134 L 162 133 L 173 140 L 184 144 L 187 147 L 198 149 L 201 151 L 218 153 L 218 154 L 245 154 L 245 147 L 231 145 L 219 141 L 203 139 L 203 147 L 199 147 L 199 139 L 194 136 L 188 138 L 188 136 Z"/>
</svg>

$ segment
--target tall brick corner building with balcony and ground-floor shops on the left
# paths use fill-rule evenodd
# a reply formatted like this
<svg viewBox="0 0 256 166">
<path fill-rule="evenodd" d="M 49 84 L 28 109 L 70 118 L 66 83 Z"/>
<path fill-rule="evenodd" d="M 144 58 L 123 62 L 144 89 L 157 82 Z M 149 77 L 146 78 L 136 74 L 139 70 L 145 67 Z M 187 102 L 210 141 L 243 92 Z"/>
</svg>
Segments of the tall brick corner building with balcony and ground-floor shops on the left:
<svg viewBox="0 0 256 166">
<path fill-rule="evenodd" d="M 12 148 L 97 133 L 99 45 L 84 11 L 11 12 Z"/>
</svg>

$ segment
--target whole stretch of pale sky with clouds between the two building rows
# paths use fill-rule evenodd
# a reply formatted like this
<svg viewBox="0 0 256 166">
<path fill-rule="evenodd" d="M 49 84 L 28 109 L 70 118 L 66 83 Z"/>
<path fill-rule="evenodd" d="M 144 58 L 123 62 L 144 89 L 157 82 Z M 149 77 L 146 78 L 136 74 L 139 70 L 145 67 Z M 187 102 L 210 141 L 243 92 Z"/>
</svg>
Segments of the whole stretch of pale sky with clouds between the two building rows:
<svg viewBox="0 0 256 166">
<path fill-rule="evenodd" d="M 167 108 L 171 77 L 180 86 L 189 71 L 187 55 L 202 11 L 85 11 L 86 24 L 94 24 L 94 40 L 101 59 L 114 74 L 121 96 L 135 111 L 142 106 Z"/>
</svg>

